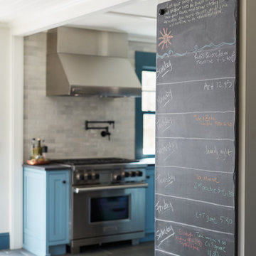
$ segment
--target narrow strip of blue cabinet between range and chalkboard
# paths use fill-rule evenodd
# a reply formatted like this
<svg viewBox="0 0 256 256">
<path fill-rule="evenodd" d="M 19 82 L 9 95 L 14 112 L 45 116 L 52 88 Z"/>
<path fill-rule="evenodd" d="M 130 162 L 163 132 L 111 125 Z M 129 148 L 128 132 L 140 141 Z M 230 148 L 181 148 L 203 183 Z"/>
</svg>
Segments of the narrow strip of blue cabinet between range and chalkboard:
<svg viewBox="0 0 256 256">
<path fill-rule="evenodd" d="M 154 240 L 154 169 L 154 166 L 146 168 L 146 183 L 149 186 L 146 188 L 145 237 L 140 240 L 141 242 Z"/>
</svg>

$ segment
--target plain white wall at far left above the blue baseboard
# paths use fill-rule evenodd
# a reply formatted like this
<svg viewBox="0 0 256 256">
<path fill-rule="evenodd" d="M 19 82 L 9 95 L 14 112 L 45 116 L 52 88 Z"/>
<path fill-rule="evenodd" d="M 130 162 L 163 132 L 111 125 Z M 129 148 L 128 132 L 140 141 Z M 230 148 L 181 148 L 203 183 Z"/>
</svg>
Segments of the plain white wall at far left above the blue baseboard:
<svg viewBox="0 0 256 256">
<path fill-rule="evenodd" d="M 9 28 L 0 26 L 0 233 L 9 232 L 10 41 Z"/>
</svg>

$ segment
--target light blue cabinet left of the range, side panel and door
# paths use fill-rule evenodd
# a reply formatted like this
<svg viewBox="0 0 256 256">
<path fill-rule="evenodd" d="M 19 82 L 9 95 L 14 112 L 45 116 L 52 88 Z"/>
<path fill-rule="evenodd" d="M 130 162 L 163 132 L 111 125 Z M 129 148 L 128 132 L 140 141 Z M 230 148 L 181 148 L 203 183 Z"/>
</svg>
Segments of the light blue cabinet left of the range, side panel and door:
<svg viewBox="0 0 256 256">
<path fill-rule="evenodd" d="M 23 172 L 23 247 L 40 256 L 65 254 L 70 171 L 25 167 Z"/>
</svg>

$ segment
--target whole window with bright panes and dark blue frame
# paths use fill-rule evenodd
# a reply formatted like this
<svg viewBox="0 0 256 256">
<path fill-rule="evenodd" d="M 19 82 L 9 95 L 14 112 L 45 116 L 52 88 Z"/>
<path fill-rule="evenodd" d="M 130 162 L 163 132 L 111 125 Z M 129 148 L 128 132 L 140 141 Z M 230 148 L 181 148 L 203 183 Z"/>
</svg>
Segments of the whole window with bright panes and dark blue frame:
<svg viewBox="0 0 256 256">
<path fill-rule="evenodd" d="M 156 54 L 136 52 L 136 73 L 142 82 L 142 97 L 136 99 L 137 159 L 154 157 L 156 111 Z"/>
</svg>

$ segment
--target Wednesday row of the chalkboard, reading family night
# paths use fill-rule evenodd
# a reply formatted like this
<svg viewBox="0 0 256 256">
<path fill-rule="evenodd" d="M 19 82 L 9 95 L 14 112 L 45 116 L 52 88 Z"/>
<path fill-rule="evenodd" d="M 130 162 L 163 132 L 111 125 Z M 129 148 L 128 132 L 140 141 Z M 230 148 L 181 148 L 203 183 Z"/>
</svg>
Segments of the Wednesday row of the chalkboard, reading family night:
<svg viewBox="0 0 256 256">
<path fill-rule="evenodd" d="M 233 172 L 235 146 L 228 139 L 156 137 L 156 165 Z"/>
</svg>

